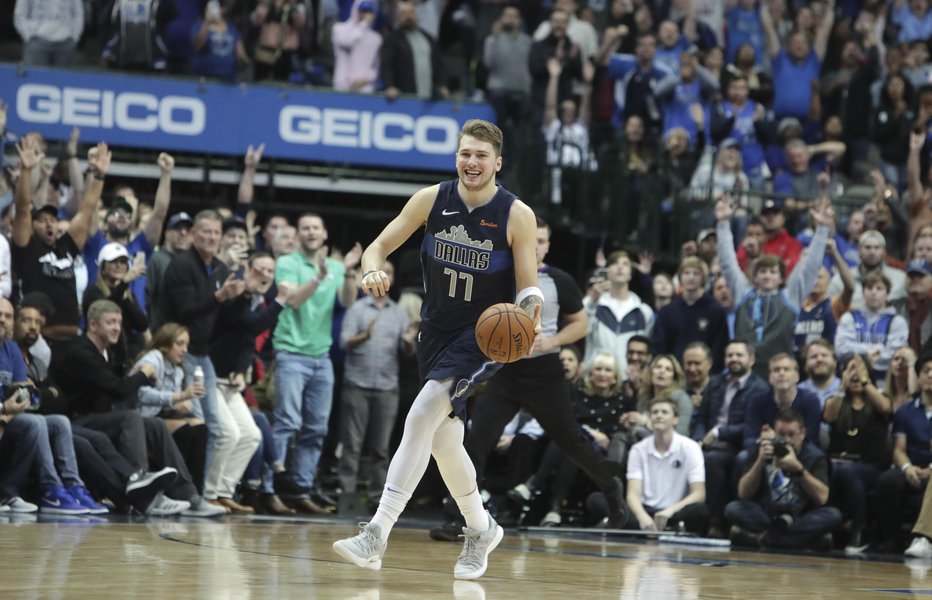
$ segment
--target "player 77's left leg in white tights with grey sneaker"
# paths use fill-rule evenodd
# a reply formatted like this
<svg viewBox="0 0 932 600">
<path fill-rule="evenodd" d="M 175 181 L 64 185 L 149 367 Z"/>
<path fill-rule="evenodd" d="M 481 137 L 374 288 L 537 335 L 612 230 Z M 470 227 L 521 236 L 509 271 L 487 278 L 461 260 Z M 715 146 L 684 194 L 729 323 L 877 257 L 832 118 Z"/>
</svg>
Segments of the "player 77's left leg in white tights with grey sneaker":
<svg viewBox="0 0 932 600">
<path fill-rule="evenodd" d="M 337 554 L 360 567 L 377 570 L 382 566 L 388 535 L 424 476 L 434 433 L 449 419 L 451 409 L 449 379 L 431 379 L 421 388 L 405 419 L 401 444 L 389 463 L 375 516 L 361 526 L 355 537 L 334 542 Z"/>
</svg>

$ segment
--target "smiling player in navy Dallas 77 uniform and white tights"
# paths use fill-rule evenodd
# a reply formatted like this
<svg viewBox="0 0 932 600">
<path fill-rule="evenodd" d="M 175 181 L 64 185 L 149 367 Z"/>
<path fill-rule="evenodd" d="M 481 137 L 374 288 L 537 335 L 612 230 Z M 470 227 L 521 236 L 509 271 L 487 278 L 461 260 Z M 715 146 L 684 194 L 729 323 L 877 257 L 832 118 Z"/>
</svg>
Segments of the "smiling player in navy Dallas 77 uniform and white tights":
<svg viewBox="0 0 932 600">
<path fill-rule="evenodd" d="M 360 526 L 358 535 L 333 544 L 337 554 L 360 567 L 382 566 L 388 535 L 431 455 L 466 521 L 466 541 L 454 577 L 481 577 L 489 553 L 504 534 L 482 505 L 476 469 L 463 447 L 469 389 L 500 366 L 480 352 L 475 325 L 489 306 L 514 302 L 533 316 L 540 331 L 544 298 L 537 287 L 534 213 L 495 183 L 502 168 L 501 150 L 498 127 L 467 121 L 456 153 L 458 178 L 414 194 L 363 253 L 362 289 L 382 296 L 389 287 L 381 270 L 385 259 L 426 226 L 418 362 L 427 383 L 405 420 L 375 516 Z"/>
</svg>

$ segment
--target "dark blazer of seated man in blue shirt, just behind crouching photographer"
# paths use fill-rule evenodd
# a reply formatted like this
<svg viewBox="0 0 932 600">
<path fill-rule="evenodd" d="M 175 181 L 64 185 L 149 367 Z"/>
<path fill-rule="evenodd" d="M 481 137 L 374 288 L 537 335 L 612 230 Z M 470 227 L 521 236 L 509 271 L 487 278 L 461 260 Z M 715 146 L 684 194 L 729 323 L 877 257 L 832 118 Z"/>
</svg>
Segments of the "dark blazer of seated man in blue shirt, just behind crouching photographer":
<svg viewBox="0 0 932 600">
<path fill-rule="evenodd" d="M 770 386 L 766 381 L 751 373 L 744 386 L 732 398 L 728 406 L 728 422 L 719 428 L 718 441 L 728 444 L 734 451 L 741 449 L 744 443 L 744 417 L 747 411 L 748 397 L 756 394 L 766 394 Z M 705 435 L 718 423 L 718 414 L 725 404 L 725 391 L 728 389 L 728 375 L 716 375 L 702 392 L 702 402 L 699 404 L 698 418 L 695 421 L 692 437 L 701 441 Z"/>
</svg>

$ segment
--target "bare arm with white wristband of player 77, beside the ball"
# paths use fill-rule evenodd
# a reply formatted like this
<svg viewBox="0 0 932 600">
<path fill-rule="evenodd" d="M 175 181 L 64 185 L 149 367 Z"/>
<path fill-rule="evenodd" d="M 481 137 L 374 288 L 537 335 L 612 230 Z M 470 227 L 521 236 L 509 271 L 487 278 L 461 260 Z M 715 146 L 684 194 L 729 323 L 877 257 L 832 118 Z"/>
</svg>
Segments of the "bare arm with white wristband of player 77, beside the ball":
<svg viewBox="0 0 932 600">
<path fill-rule="evenodd" d="M 540 333 L 540 311 L 544 295 L 537 281 L 537 218 L 527 204 L 515 200 L 508 215 L 508 242 L 515 265 L 515 303 L 534 318 L 534 333 Z"/>
</svg>

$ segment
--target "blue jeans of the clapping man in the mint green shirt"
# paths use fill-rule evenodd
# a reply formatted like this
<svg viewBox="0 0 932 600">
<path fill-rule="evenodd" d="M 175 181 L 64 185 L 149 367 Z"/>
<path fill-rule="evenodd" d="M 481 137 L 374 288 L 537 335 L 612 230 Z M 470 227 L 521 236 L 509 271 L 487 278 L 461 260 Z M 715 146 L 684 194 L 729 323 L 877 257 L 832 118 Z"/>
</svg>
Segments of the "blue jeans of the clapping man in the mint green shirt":
<svg viewBox="0 0 932 600">
<path fill-rule="evenodd" d="M 287 456 L 291 438 L 299 433 L 291 471 L 295 483 L 310 488 L 333 405 L 333 365 L 327 355 L 314 358 L 284 350 L 275 352 L 275 360 L 275 451 L 280 459 Z"/>
</svg>

